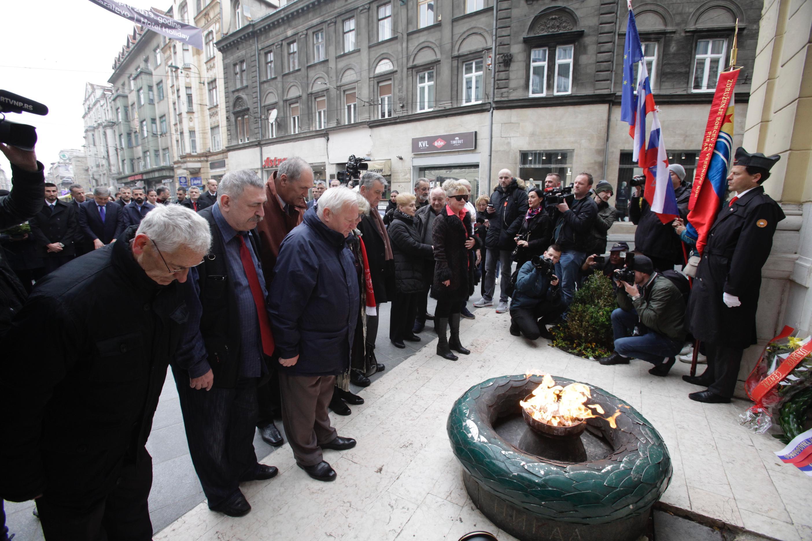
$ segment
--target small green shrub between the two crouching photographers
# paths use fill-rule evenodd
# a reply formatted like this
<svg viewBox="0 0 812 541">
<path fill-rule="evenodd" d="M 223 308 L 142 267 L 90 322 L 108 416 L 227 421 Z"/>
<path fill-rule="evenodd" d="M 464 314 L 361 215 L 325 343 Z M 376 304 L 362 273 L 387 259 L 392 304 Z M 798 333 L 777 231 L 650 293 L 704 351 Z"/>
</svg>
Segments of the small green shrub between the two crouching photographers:
<svg viewBox="0 0 812 541">
<path fill-rule="evenodd" d="M 604 357 L 614 349 L 611 312 L 617 307 L 611 280 L 594 273 L 575 292 L 567 320 L 552 329 L 552 345 L 585 357 Z"/>
</svg>

